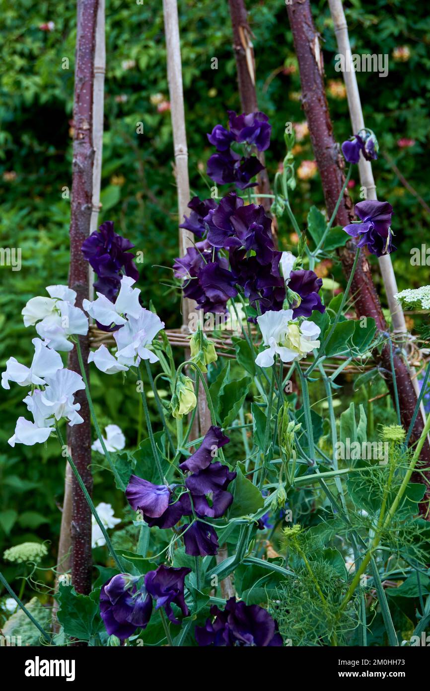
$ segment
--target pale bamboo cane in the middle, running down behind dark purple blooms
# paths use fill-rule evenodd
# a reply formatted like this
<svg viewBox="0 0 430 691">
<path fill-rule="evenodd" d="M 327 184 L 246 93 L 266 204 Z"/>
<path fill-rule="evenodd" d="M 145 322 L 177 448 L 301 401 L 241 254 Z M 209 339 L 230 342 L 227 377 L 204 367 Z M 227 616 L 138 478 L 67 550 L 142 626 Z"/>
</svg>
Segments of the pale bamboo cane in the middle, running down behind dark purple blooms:
<svg viewBox="0 0 430 691">
<path fill-rule="evenodd" d="M 163 0 L 164 31 L 166 33 L 167 75 L 170 96 L 170 115 L 173 129 L 173 148 L 175 151 L 175 175 L 177 184 L 177 207 L 179 222 L 187 211 L 190 200 L 190 183 L 188 180 L 188 148 L 186 144 L 186 126 L 184 111 L 184 90 L 182 88 L 182 62 L 179 39 L 179 19 L 177 0 Z M 184 229 L 179 230 L 179 254 L 184 256 L 188 247 L 193 247 L 193 234 Z M 188 331 L 190 312 L 195 310 L 195 303 L 186 298 L 182 301 L 182 327 Z M 199 382 L 199 429 L 206 434 L 211 426 L 211 413 L 208 409 L 202 384 Z M 197 416 L 196 416 L 197 417 Z M 195 438 L 199 436 L 197 428 L 193 429 Z"/>
</svg>

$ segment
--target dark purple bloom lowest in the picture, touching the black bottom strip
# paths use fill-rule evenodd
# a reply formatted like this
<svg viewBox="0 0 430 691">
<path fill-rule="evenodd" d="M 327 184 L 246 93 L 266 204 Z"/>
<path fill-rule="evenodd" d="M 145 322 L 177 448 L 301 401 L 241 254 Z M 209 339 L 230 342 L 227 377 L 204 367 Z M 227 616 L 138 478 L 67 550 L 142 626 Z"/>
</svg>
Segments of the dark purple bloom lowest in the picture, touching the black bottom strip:
<svg viewBox="0 0 430 691">
<path fill-rule="evenodd" d="M 235 598 L 227 600 L 224 610 L 213 605 L 211 617 L 202 627 L 195 627 L 195 638 L 200 646 L 216 647 L 284 645 L 277 623 L 259 605 L 246 605 Z"/>
</svg>

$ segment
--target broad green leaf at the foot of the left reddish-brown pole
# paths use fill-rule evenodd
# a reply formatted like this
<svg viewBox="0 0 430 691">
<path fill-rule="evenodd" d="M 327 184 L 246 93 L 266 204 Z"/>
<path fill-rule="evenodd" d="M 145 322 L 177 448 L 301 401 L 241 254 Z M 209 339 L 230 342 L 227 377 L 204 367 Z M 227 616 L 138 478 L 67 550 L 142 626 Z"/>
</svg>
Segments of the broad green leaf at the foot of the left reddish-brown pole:
<svg viewBox="0 0 430 691">
<path fill-rule="evenodd" d="M 88 641 L 91 636 L 104 630 L 99 616 L 99 599 L 99 588 L 90 595 L 80 595 L 71 586 L 59 585 L 57 600 L 60 609 L 57 616 L 68 636 Z"/>
</svg>

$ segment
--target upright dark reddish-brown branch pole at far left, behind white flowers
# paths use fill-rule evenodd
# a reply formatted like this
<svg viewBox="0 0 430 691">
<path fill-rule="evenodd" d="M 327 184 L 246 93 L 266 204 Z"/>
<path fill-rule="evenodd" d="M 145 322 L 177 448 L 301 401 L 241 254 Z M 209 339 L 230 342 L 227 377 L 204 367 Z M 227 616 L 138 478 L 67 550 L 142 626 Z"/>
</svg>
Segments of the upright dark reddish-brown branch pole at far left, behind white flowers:
<svg viewBox="0 0 430 691">
<path fill-rule="evenodd" d="M 94 79 L 95 27 L 98 0 L 77 1 L 77 46 L 75 100 L 73 104 L 72 198 L 70 213 L 70 272 L 68 285 L 77 292 L 76 304 L 88 299 L 88 263 L 81 252 L 90 232 L 92 209 L 92 87 Z M 88 337 L 79 337 L 84 362 L 88 359 Z M 70 351 L 68 368 L 80 372 L 76 348 Z M 88 377 L 88 372 L 87 372 Z M 75 397 L 84 422 L 67 428 L 72 459 L 92 492 L 90 411 L 84 391 Z M 72 585 L 79 593 L 91 589 L 91 512 L 73 477 L 72 480 Z"/>
</svg>

